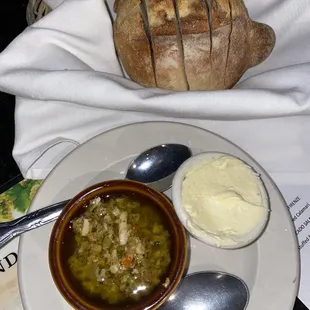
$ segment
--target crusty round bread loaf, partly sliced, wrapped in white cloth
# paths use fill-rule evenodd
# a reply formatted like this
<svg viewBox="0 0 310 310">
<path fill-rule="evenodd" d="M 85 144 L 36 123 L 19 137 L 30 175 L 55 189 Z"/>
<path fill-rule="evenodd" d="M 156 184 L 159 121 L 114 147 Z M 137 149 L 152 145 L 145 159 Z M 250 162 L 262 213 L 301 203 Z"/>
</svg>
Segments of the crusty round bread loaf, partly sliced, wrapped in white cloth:
<svg viewBox="0 0 310 310">
<path fill-rule="evenodd" d="M 242 0 L 116 0 L 114 10 L 118 56 L 145 87 L 229 89 L 275 44 Z"/>
</svg>

